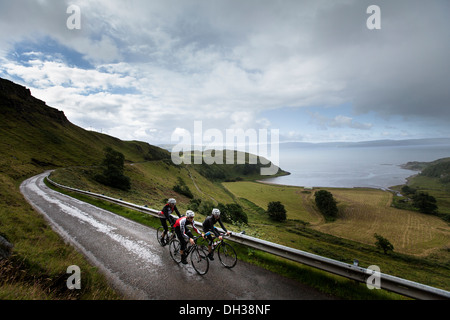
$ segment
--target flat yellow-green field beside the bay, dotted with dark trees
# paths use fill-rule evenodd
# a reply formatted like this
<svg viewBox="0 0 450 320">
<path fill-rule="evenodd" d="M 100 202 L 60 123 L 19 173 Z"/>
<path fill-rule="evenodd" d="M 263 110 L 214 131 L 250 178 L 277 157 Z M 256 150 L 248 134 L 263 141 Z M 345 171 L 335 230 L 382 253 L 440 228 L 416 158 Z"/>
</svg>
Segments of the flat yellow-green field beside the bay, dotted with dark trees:
<svg viewBox="0 0 450 320">
<path fill-rule="evenodd" d="M 224 183 L 234 195 L 261 208 L 270 201 L 281 201 L 288 220 L 302 220 L 309 227 L 337 237 L 372 245 L 375 233 L 389 239 L 397 252 L 426 256 L 445 250 L 450 244 L 449 225 L 435 216 L 400 210 L 390 206 L 392 193 L 377 189 L 334 189 L 339 215 L 325 222 L 314 205 L 314 191 L 301 187 L 266 185 L 255 182 Z"/>
</svg>

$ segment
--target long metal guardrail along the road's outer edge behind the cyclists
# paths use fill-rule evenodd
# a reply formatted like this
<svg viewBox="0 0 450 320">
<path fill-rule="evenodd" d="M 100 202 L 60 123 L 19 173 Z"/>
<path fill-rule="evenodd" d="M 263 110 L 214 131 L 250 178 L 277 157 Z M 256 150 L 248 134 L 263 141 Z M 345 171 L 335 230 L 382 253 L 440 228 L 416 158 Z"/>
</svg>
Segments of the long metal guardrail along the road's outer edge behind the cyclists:
<svg viewBox="0 0 450 320">
<path fill-rule="evenodd" d="M 51 173 L 50 173 L 51 174 Z M 50 174 L 47 180 L 54 186 L 74 191 L 81 194 L 86 194 L 94 198 L 106 200 L 123 207 L 127 207 L 136 211 L 150 214 L 159 218 L 159 210 L 151 209 L 146 206 L 139 206 L 120 199 L 111 198 L 102 194 L 92 193 L 89 191 L 79 190 L 67 187 L 56 183 L 50 179 Z M 202 224 L 196 222 L 196 227 L 202 229 Z M 348 279 L 356 280 L 362 283 L 368 283 L 368 279 L 374 276 L 379 277 L 379 284 L 381 289 L 392 291 L 410 298 L 420 300 L 450 300 L 450 292 L 442 289 L 434 288 L 417 282 L 405 280 L 394 277 L 381 272 L 376 272 L 372 269 L 366 269 L 357 265 L 344 263 L 341 261 L 325 258 L 309 252 L 293 249 L 287 246 L 279 245 L 273 242 L 257 239 L 241 233 L 232 233 L 229 238 L 230 241 L 243 244 L 245 246 L 265 251 L 304 265 L 314 267 L 323 271 L 327 271 Z M 369 283 L 370 284 L 370 283 Z"/>
</svg>

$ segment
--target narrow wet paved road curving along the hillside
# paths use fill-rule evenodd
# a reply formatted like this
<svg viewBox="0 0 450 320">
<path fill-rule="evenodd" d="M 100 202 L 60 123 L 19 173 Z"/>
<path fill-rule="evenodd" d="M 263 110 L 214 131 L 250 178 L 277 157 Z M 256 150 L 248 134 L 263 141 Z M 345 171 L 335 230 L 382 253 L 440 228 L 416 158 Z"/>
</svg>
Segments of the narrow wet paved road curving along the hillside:
<svg viewBox="0 0 450 320">
<path fill-rule="evenodd" d="M 55 192 L 44 184 L 46 175 L 24 181 L 22 194 L 129 299 L 329 299 L 242 261 L 228 270 L 215 259 L 205 276 L 197 275 L 192 266 L 171 259 L 154 229 Z"/>
</svg>

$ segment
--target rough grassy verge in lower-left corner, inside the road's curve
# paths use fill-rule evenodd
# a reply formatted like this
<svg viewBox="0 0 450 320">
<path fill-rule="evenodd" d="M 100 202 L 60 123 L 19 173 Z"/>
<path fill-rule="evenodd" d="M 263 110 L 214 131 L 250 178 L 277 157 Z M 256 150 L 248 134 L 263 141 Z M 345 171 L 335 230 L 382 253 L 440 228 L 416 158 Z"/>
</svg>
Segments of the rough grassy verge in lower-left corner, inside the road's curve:
<svg viewBox="0 0 450 320">
<path fill-rule="evenodd" d="M 65 243 L 18 191 L 20 181 L 0 175 L 0 233 L 14 244 L 0 261 L 0 300 L 116 300 L 105 277 Z M 69 290 L 67 267 L 81 268 L 81 289 Z"/>
</svg>

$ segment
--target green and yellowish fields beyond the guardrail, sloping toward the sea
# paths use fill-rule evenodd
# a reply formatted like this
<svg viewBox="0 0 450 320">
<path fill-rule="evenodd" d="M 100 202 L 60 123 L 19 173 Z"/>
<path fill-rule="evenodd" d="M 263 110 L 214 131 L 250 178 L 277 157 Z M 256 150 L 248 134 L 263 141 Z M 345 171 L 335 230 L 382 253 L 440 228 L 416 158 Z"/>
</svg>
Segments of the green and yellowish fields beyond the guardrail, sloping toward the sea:
<svg viewBox="0 0 450 320">
<path fill-rule="evenodd" d="M 175 170 L 174 173 L 182 177 L 200 199 L 214 198 L 222 203 L 234 201 L 240 204 L 248 215 L 249 223 L 227 225 L 235 232 L 245 230 L 251 236 L 346 263 L 358 259 L 361 266 L 376 264 L 387 274 L 446 290 L 450 288 L 448 224 L 434 216 L 392 208 L 392 193 L 387 191 L 328 189 L 338 200 L 340 213 L 336 221 L 325 222 L 313 202 L 316 190 L 250 181 L 213 183 L 201 175 L 189 175 L 192 169 L 167 168 L 158 162 L 127 166 L 126 172 L 133 177 L 132 189 L 128 193 L 105 189 L 83 178 L 79 168 L 57 170 L 52 178 L 68 185 L 72 185 L 71 181 L 74 184 L 84 181 L 84 186 L 77 187 L 134 203 L 139 200 L 138 204 L 145 203 L 155 209 L 162 205 L 162 199 L 174 196 L 181 211 L 184 211 L 189 199 L 167 188 L 176 181 L 173 177 L 169 178 L 171 170 Z M 167 177 L 162 178 L 163 173 Z M 163 181 L 170 183 L 164 184 Z M 152 185 L 154 188 L 151 188 Z M 143 202 L 145 199 L 152 200 Z M 281 201 L 285 205 L 286 222 L 269 219 L 265 210 L 270 201 Z M 196 220 L 202 221 L 204 218 L 197 215 Z M 394 252 L 385 255 L 376 249 L 374 233 L 389 239 L 394 245 Z M 249 254 L 252 255 L 251 250 Z"/>
</svg>

